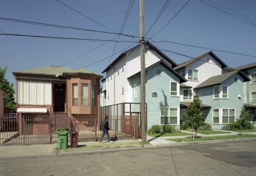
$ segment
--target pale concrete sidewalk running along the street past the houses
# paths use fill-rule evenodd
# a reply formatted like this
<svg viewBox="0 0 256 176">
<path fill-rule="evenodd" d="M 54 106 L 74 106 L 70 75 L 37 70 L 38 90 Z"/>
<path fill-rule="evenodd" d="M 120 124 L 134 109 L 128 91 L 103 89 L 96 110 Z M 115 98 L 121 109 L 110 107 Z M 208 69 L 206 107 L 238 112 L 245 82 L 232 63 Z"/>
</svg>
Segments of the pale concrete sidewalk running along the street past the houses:
<svg viewBox="0 0 256 176">
<path fill-rule="evenodd" d="M 115 141 L 113 143 L 113 147 L 111 147 L 111 143 L 103 142 L 99 143 L 96 142 L 79 142 L 78 146 L 92 146 L 96 145 L 99 146 L 97 148 L 71 148 L 67 150 L 56 150 L 57 143 L 54 144 L 40 144 L 40 145 L 3 145 L 0 146 L 0 157 L 33 157 L 33 156 L 41 156 L 41 155 L 56 155 L 60 153 L 68 153 L 68 152 L 96 152 L 96 151 L 104 151 L 104 150 L 131 150 L 131 149 L 138 149 L 138 148 L 150 148 L 150 147 L 170 147 L 170 146 L 177 146 L 177 145 L 188 145 L 188 144 L 198 144 L 198 143 L 225 143 L 234 140 L 256 140 L 256 138 L 244 138 L 244 139 L 232 139 L 232 140 L 214 140 L 214 141 L 195 141 L 195 142 L 182 142 L 177 143 L 174 141 L 169 141 L 168 139 L 174 138 L 188 138 L 190 136 L 189 131 L 182 131 L 188 132 L 188 136 L 164 136 L 154 138 L 151 136 L 147 136 L 147 141 L 150 145 L 133 145 L 131 143 L 138 143 L 141 140 L 120 140 Z M 230 132 L 225 134 L 200 134 L 197 133 L 197 136 L 229 136 L 239 134 L 239 132 Z M 256 132 L 246 132 L 246 134 L 255 134 Z M 100 147 L 100 145 L 109 144 L 109 147 Z M 120 147 L 115 147 L 115 144 L 120 144 Z M 122 145 L 121 145 L 122 144 Z M 130 145 L 129 145 L 130 144 Z"/>
</svg>

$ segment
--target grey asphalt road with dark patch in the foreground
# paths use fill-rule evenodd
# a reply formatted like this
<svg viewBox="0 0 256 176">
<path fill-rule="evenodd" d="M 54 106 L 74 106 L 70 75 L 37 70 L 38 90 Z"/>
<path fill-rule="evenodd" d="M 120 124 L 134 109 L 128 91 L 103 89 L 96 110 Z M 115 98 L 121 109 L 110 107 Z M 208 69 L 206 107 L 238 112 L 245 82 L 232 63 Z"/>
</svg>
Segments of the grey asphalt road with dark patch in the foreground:
<svg viewBox="0 0 256 176">
<path fill-rule="evenodd" d="M 0 157 L 0 175 L 256 175 L 256 141 Z"/>
</svg>

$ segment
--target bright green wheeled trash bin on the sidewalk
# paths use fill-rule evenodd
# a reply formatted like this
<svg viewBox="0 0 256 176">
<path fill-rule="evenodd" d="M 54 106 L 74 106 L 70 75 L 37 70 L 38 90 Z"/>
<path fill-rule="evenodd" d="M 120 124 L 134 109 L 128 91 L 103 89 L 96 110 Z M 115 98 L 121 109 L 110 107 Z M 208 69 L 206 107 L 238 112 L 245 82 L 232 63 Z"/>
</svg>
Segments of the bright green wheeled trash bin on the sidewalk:
<svg viewBox="0 0 256 176">
<path fill-rule="evenodd" d="M 68 148 L 68 128 L 57 129 L 57 148 Z"/>
</svg>

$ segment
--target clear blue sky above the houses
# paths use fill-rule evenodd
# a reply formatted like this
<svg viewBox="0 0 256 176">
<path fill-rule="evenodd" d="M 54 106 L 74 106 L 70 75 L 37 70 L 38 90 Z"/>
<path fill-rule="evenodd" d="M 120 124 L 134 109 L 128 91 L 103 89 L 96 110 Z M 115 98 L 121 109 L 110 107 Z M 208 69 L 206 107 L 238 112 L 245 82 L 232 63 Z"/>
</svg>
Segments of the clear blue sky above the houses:
<svg viewBox="0 0 256 176">
<path fill-rule="evenodd" d="M 163 7 L 166 8 L 154 24 Z M 164 54 L 177 64 L 190 59 L 186 56 L 196 57 L 208 51 L 228 67 L 256 61 L 256 0 L 144 0 L 144 13 L 146 40 L 167 50 Z M 6 79 L 14 84 L 15 92 L 12 72 L 19 70 L 53 65 L 86 68 L 106 76 L 102 71 L 109 63 L 140 40 L 139 0 L 1 0 L 0 18 L 0 33 L 6 34 L 0 35 L 0 67 L 8 67 Z M 13 19 L 94 31 L 52 28 Z M 128 36 L 118 37 L 116 33 Z"/>
</svg>

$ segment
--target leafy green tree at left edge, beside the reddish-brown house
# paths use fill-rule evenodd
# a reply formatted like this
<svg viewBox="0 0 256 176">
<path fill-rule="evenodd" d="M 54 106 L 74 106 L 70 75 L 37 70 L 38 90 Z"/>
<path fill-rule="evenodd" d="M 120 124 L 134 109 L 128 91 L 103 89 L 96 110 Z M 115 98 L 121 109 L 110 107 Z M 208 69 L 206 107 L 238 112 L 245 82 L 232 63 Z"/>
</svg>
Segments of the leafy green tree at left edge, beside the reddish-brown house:
<svg viewBox="0 0 256 176">
<path fill-rule="evenodd" d="M 6 94 L 4 94 L 4 108 L 10 108 L 16 111 L 17 108 L 13 97 L 15 91 L 13 89 L 13 84 L 10 84 L 7 79 L 4 78 L 6 72 L 7 67 L 4 67 L 3 69 L 0 67 L 0 89 L 6 92 Z"/>
</svg>

